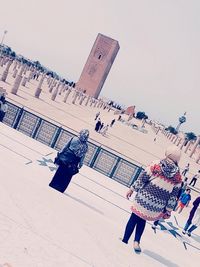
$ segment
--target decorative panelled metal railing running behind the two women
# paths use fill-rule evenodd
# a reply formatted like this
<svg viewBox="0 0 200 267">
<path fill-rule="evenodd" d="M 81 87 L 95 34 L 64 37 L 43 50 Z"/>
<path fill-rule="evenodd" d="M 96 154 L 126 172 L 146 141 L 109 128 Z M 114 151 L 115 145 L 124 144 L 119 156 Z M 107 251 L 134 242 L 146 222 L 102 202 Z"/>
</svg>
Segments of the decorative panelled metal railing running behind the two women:
<svg viewBox="0 0 200 267">
<path fill-rule="evenodd" d="M 5 124 L 56 150 L 60 150 L 71 137 L 76 135 L 72 129 L 69 131 L 66 127 L 51 122 L 50 119 L 42 118 L 14 103 L 7 101 L 7 104 L 8 111 L 3 120 Z M 130 186 L 143 170 L 133 160 L 97 144 L 94 140 L 90 139 L 88 144 L 89 149 L 84 164 L 121 184 Z"/>
</svg>

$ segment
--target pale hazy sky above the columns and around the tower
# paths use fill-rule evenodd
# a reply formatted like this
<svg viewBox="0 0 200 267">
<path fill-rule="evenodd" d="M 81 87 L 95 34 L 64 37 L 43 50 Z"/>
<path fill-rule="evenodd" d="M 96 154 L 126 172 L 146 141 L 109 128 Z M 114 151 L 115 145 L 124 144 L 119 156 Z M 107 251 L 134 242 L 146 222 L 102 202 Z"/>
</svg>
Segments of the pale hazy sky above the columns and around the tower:
<svg viewBox="0 0 200 267">
<path fill-rule="evenodd" d="M 200 134 L 199 0 L 0 0 L 0 38 L 78 81 L 98 33 L 120 50 L 101 95 Z"/>
</svg>

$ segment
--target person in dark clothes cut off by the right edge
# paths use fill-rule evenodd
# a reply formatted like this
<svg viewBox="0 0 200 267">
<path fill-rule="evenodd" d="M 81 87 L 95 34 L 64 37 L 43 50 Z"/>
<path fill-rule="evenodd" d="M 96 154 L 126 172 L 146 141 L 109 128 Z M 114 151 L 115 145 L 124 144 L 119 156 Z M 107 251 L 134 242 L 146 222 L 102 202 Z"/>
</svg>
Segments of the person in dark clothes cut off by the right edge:
<svg viewBox="0 0 200 267">
<path fill-rule="evenodd" d="M 200 225 L 200 197 L 193 202 L 189 218 L 183 228 L 182 233 L 191 236 L 191 233 Z"/>
</svg>

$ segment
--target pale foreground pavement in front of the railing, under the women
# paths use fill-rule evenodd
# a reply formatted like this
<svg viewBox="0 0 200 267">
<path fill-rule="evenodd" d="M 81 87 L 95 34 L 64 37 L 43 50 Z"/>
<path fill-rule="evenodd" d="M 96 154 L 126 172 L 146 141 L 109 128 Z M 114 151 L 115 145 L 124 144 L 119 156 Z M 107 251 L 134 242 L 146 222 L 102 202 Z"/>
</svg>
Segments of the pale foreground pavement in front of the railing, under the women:
<svg viewBox="0 0 200 267">
<path fill-rule="evenodd" d="M 84 166 L 60 194 L 48 186 L 56 152 L 4 124 L 0 151 L 0 266 L 199 266 L 200 229 L 181 234 L 191 206 L 156 233 L 148 224 L 137 255 L 119 240 L 130 215 L 126 187 Z"/>
</svg>

